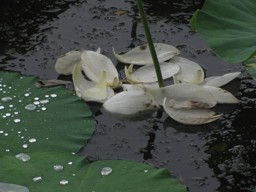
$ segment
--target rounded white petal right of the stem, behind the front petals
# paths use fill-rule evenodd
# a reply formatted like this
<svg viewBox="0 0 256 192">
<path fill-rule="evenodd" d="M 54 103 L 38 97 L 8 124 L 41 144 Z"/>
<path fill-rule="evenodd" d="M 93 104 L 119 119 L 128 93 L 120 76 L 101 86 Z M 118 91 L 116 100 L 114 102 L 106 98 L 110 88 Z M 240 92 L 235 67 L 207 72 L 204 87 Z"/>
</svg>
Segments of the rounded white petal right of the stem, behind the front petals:
<svg viewBox="0 0 256 192">
<path fill-rule="evenodd" d="M 199 84 L 199 83 L 203 82 L 204 70 L 201 66 L 198 65 L 198 63 L 188 60 L 186 58 L 178 57 L 178 56 L 173 57 L 169 62 L 175 63 L 180 66 L 180 73 L 177 74 L 177 77 L 179 79 L 182 77 L 182 79 L 185 82 L 193 83 L 190 81 L 193 81 L 193 79 L 196 78 L 197 81 L 194 84 Z M 198 70 L 200 70 L 199 74 L 197 74 Z M 196 76 L 196 74 L 199 76 Z M 194 81 L 195 81 L 195 79 L 194 79 Z"/>
</svg>

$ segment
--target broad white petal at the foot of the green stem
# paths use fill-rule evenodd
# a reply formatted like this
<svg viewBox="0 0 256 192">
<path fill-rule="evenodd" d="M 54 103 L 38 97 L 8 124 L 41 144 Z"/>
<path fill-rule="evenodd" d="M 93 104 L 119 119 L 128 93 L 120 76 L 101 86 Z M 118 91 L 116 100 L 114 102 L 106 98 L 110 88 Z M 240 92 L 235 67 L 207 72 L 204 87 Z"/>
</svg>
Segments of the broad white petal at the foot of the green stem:
<svg viewBox="0 0 256 192">
<path fill-rule="evenodd" d="M 147 92 L 153 95 L 159 105 L 162 105 L 165 97 L 177 101 L 191 100 L 195 103 L 207 103 L 208 108 L 217 104 L 217 100 L 204 87 L 190 83 L 174 84 L 161 88 L 147 87 Z"/>
</svg>

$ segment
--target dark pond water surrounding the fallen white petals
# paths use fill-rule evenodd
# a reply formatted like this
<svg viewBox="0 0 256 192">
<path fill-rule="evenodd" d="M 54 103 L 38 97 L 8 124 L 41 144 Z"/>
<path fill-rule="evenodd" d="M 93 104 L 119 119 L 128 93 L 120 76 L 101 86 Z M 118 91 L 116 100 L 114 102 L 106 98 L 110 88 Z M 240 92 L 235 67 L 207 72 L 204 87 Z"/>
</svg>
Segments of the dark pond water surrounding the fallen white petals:
<svg viewBox="0 0 256 192">
<path fill-rule="evenodd" d="M 129 159 L 167 167 L 189 191 L 253 191 L 256 185 L 256 83 L 241 63 L 216 57 L 189 21 L 204 1 L 143 1 L 154 42 L 176 46 L 181 57 L 198 62 L 206 77 L 243 73 L 224 89 L 241 100 L 218 105 L 219 121 L 182 125 L 158 111 L 145 119 L 114 119 L 89 103 L 96 131 L 79 155 L 92 159 Z M 111 14 L 127 10 L 124 15 Z M 146 43 L 135 1 L 1 1 L 0 69 L 44 79 L 70 79 L 54 71 L 55 60 L 71 50 L 96 50 L 124 65 L 111 52 Z M 72 86 L 68 87 L 73 89 Z"/>
</svg>

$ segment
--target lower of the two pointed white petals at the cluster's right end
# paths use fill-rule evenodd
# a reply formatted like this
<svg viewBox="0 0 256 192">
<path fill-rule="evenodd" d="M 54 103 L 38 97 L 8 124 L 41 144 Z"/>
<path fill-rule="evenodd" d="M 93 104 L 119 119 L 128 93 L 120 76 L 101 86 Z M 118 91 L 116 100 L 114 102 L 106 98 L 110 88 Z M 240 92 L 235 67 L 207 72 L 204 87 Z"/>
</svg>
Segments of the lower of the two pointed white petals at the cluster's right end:
<svg viewBox="0 0 256 192">
<path fill-rule="evenodd" d="M 210 91 L 218 103 L 238 103 L 239 100 L 234 97 L 230 92 L 214 86 L 203 86 Z"/>
</svg>

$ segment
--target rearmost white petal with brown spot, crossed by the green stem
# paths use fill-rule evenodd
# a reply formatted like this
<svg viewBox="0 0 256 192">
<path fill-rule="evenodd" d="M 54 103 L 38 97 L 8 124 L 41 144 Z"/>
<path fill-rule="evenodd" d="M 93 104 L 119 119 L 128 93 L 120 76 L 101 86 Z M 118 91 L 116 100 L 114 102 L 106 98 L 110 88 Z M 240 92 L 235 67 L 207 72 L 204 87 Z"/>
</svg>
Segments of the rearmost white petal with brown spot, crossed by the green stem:
<svg viewBox="0 0 256 192">
<path fill-rule="evenodd" d="M 154 43 L 154 46 L 159 62 L 164 62 L 180 53 L 180 51 L 172 45 Z M 153 63 L 148 44 L 137 46 L 122 55 L 117 54 L 113 48 L 113 53 L 118 61 L 124 63 L 134 63 L 136 65 L 147 65 Z"/>
</svg>

